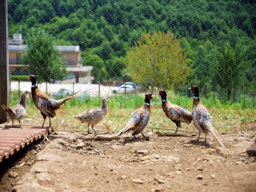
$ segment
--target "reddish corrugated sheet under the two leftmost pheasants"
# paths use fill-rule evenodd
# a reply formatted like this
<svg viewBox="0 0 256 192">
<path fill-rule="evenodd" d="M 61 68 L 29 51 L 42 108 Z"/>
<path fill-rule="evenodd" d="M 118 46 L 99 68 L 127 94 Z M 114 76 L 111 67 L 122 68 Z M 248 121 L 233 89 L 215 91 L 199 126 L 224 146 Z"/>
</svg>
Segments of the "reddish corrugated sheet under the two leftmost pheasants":
<svg viewBox="0 0 256 192">
<path fill-rule="evenodd" d="M 18 124 L 9 124 L 0 127 L 0 162 L 50 132 L 51 127 L 33 124 L 22 124 L 21 127 Z"/>
</svg>

